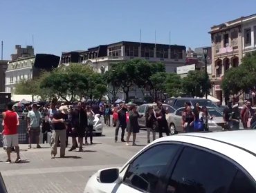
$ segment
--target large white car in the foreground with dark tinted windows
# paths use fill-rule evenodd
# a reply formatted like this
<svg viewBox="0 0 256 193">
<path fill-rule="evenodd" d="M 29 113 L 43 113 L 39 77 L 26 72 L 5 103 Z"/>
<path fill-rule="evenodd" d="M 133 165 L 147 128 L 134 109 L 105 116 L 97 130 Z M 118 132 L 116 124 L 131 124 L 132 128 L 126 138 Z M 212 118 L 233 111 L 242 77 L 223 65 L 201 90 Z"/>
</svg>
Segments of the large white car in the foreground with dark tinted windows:
<svg viewBox="0 0 256 193">
<path fill-rule="evenodd" d="M 166 136 L 121 168 L 99 170 L 84 193 L 256 192 L 256 130 Z"/>
</svg>

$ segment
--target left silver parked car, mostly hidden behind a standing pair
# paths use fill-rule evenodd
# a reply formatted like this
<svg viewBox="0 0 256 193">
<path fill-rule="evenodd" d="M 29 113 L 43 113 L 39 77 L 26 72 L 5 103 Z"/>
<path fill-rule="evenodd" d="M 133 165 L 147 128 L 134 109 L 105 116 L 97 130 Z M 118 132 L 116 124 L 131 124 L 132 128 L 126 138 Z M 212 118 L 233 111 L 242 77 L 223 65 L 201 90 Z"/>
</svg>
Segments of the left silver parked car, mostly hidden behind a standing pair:
<svg viewBox="0 0 256 193">
<path fill-rule="evenodd" d="M 145 128 L 146 127 L 146 117 L 145 114 L 147 112 L 147 109 L 149 107 L 152 107 L 154 110 L 157 109 L 157 104 L 156 103 L 148 103 L 148 104 L 143 104 L 140 105 L 138 107 L 138 114 L 143 115 L 142 118 L 138 119 L 138 124 L 140 125 L 140 127 Z M 167 104 L 163 104 L 163 108 L 165 108 L 166 112 L 168 112 L 168 114 L 166 115 L 166 119 L 168 118 L 168 116 L 170 115 L 170 113 L 174 113 L 175 109 Z"/>
</svg>

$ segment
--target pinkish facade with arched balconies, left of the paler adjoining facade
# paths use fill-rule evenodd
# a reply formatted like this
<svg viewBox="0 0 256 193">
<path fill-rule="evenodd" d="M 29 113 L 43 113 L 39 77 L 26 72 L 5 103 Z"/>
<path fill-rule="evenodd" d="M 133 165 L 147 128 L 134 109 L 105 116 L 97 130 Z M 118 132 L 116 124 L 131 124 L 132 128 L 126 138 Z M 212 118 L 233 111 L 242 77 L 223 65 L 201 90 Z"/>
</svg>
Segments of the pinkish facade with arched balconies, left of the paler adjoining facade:
<svg viewBox="0 0 256 193">
<path fill-rule="evenodd" d="M 236 68 L 242 58 L 241 19 L 212 26 L 212 94 L 223 102 L 221 79 L 230 68 Z"/>
</svg>

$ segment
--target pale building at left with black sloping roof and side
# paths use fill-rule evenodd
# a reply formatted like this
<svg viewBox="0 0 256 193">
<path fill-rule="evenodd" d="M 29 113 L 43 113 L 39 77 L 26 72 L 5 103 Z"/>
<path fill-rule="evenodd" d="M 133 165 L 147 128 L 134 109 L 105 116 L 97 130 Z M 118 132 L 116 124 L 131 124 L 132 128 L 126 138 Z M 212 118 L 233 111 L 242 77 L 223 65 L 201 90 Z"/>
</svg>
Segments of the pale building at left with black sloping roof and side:
<svg viewBox="0 0 256 193">
<path fill-rule="evenodd" d="M 34 57 L 9 61 L 6 70 L 6 92 L 13 93 L 19 81 L 36 79 L 41 70 L 57 68 L 59 62 L 60 57 L 52 54 L 36 54 Z"/>
</svg>

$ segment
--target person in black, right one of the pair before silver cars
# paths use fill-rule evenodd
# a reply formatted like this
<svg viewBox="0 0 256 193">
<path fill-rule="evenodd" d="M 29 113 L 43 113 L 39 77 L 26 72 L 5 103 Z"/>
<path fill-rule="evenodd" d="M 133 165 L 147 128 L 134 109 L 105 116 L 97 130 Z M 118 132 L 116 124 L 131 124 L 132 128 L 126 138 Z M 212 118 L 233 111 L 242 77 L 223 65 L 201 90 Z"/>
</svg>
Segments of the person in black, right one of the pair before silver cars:
<svg viewBox="0 0 256 193">
<path fill-rule="evenodd" d="M 163 130 L 165 131 L 167 136 L 170 136 L 170 130 L 168 128 L 168 123 L 166 120 L 167 112 L 163 108 L 162 102 L 158 102 L 157 107 L 159 109 L 158 116 L 156 117 L 158 121 L 159 138 L 163 137 Z"/>
</svg>

